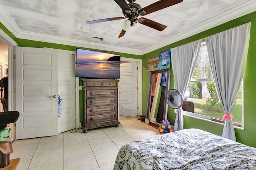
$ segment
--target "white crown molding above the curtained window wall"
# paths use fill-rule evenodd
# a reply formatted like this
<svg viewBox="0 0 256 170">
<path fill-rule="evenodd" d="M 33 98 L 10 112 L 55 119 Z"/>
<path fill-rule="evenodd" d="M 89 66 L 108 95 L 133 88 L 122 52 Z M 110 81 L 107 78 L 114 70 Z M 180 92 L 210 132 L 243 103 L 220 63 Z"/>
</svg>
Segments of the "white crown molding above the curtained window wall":
<svg viewBox="0 0 256 170">
<path fill-rule="evenodd" d="M 232 8 L 227 12 L 223 12 L 222 14 L 214 16 L 209 20 L 202 21 L 196 26 L 190 27 L 189 29 L 181 31 L 180 33 L 177 33 L 176 35 L 173 35 L 170 38 L 164 39 L 159 43 L 156 43 L 150 47 L 142 49 L 141 53 L 142 55 L 144 55 L 151 51 L 160 49 L 166 45 L 170 45 L 182 39 L 191 37 L 192 35 L 196 35 L 197 33 L 201 33 L 203 31 L 206 31 L 208 29 L 221 25 L 222 23 L 226 23 L 228 21 L 234 20 L 246 14 L 250 14 L 254 11 L 256 11 L 256 1 L 252 3 L 252 0 L 248 0 L 247 2 L 244 2 L 242 5 L 236 6 L 235 8 Z"/>
</svg>

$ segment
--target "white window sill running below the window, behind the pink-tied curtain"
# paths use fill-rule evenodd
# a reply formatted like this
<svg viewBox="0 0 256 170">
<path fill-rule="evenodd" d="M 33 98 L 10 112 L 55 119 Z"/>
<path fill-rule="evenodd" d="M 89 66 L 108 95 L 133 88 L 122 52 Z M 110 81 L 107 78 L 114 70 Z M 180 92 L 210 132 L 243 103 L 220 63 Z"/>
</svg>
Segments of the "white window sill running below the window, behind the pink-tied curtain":
<svg viewBox="0 0 256 170">
<path fill-rule="evenodd" d="M 183 111 L 183 115 L 186 115 L 186 116 L 189 116 L 189 117 L 194 117 L 196 119 L 201 119 L 201 120 L 204 120 L 204 121 L 217 123 L 219 125 L 224 125 L 225 124 L 225 120 L 217 119 L 217 118 L 213 118 L 213 117 L 209 117 L 209 116 L 205 116 L 205 115 L 200 115 L 200 114 L 197 114 L 197 113 L 191 113 L 191 112 L 188 112 L 188 111 Z M 233 125 L 234 125 L 234 128 L 236 128 L 236 129 L 244 130 L 243 124 L 241 124 L 241 123 L 233 122 Z"/>
</svg>

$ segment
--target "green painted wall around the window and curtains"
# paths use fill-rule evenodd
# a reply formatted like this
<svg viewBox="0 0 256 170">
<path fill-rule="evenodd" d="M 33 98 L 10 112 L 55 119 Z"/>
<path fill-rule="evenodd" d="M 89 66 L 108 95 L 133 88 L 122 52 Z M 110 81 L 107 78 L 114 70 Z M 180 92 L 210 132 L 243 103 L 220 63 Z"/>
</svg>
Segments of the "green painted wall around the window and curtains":
<svg viewBox="0 0 256 170">
<path fill-rule="evenodd" d="M 146 106 L 147 106 L 147 98 L 148 98 L 148 84 L 149 84 L 149 72 L 147 72 L 147 63 L 148 59 L 159 56 L 159 53 L 165 50 L 168 50 L 173 47 L 178 47 L 180 45 L 184 45 L 190 43 L 192 41 L 196 41 L 198 39 L 203 39 L 204 37 L 208 37 L 215 33 L 219 33 L 226 29 L 230 29 L 236 27 L 238 25 L 242 25 L 244 23 L 251 22 L 251 34 L 250 34 L 250 45 L 248 51 L 248 58 L 246 64 L 246 70 L 244 73 L 244 130 L 235 129 L 236 139 L 238 142 L 243 143 L 248 146 L 256 147 L 256 104 L 254 103 L 254 99 L 256 98 L 256 12 L 248 14 L 246 16 L 242 16 L 235 20 L 229 21 L 212 29 L 208 29 L 203 31 L 202 33 L 198 33 L 194 36 L 188 37 L 176 43 L 167 45 L 158 50 L 152 51 L 145 55 L 142 55 L 142 111 L 146 114 Z M 170 88 L 174 88 L 174 77 L 171 74 L 171 84 Z M 176 114 L 174 113 L 174 109 L 168 108 L 168 120 L 171 124 L 174 124 Z M 198 128 L 205 131 L 209 131 L 216 135 L 222 136 L 223 125 L 219 125 L 217 123 L 212 123 L 209 121 L 205 121 L 202 119 L 197 119 L 194 117 L 184 116 L 184 129 L 187 128 Z"/>
</svg>

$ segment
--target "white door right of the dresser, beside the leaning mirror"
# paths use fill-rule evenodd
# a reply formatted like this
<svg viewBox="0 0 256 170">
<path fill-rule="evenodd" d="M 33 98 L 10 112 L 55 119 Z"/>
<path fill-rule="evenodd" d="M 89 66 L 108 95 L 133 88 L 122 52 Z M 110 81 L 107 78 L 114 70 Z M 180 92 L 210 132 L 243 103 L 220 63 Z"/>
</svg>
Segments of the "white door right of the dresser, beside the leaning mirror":
<svg viewBox="0 0 256 170">
<path fill-rule="evenodd" d="M 137 63 L 120 64 L 119 115 L 138 115 L 138 72 Z"/>
</svg>

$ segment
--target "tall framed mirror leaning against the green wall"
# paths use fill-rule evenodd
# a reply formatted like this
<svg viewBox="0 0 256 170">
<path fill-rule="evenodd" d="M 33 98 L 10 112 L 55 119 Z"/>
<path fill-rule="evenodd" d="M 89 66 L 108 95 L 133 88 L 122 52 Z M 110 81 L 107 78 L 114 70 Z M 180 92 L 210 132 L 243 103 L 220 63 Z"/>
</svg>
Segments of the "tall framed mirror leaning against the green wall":
<svg viewBox="0 0 256 170">
<path fill-rule="evenodd" d="M 146 123 L 158 128 L 167 119 L 165 94 L 170 86 L 170 68 L 150 72 Z"/>
</svg>

